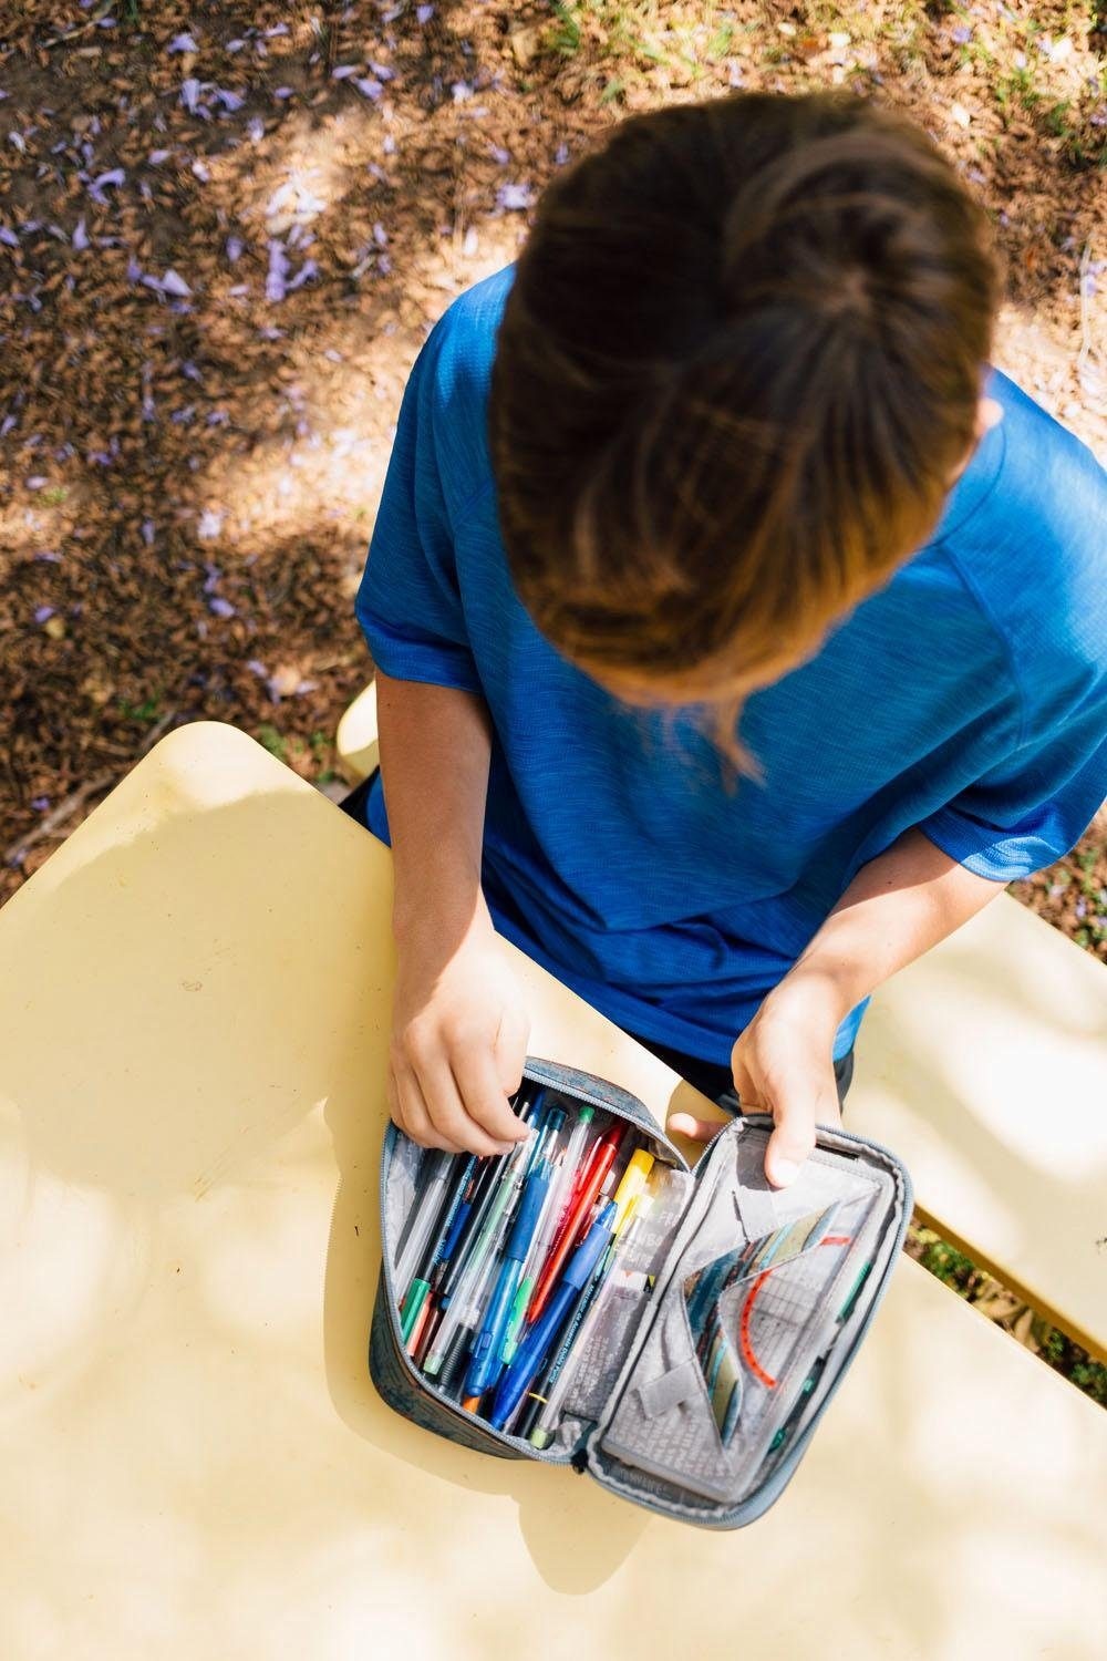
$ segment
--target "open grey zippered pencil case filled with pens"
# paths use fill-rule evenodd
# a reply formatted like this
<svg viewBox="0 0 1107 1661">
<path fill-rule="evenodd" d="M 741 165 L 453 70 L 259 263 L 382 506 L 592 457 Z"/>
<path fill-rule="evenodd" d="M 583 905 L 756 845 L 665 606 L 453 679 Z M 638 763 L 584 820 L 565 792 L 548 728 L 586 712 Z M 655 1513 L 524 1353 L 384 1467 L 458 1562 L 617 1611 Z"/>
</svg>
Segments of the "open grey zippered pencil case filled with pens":
<svg viewBox="0 0 1107 1661">
<path fill-rule="evenodd" d="M 461 1405 L 456 1370 L 453 1380 L 445 1369 L 425 1370 L 433 1337 L 420 1355 L 407 1332 L 398 1269 L 422 1216 L 428 1163 L 445 1156 L 390 1126 L 368 1349 L 380 1395 L 451 1442 L 573 1465 L 662 1515 L 714 1528 L 753 1521 L 795 1472 L 886 1291 L 911 1214 L 906 1169 L 880 1144 L 820 1126 L 797 1181 L 773 1189 L 763 1174 L 772 1131 L 763 1115 L 735 1118 L 690 1168 L 636 1096 L 589 1073 L 528 1058 L 516 1111 L 523 1100 L 524 1113 L 538 1115 L 533 1123 L 558 1121 L 558 1133 L 588 1120 L 596 1138 L 622 1138 L 624 1166 L 637 1153 L 649 1176 L 634 1216 L 604 1236 L 597 1267 L 588 1264 L 588 1297 L 574 1287 L 544 1369 L 518 1414 L 496 1428 L 485 1399 L 483 1417 Z M 528 1158 L 516 1161 L 519 1206 Z M 596 1196 L 591 1232 L 621 1227 L 612 1222 L 616 1176 L 617 1168 L 607 1194 Z M 581 1246 L 578 1259 L 584 1256 Z M 403 1274 L 410 1277 L 410 1256 Z M 453 1324 L 476 1344 L 481 1311 L 458 1302 L 461 1291 L 455 1286 Z M 445 1302 L 427 1319 L 445 1324 Z M 508 1399 L 510 1375 L 511 1367 L 500 1375 Z"/>
</svg>

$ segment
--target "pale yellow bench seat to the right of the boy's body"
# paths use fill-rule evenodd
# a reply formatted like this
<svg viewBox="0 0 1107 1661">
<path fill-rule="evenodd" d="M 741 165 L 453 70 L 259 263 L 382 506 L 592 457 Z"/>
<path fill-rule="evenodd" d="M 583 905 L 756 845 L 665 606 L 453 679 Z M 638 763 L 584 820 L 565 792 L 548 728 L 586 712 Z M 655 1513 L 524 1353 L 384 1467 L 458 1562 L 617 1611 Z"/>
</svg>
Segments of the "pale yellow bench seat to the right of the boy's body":
<svg viewBox="0 0 1107 1661">
<path fill-rule="evenodd" d="M 1002 895 L 865 1017 L 850 1129 L 919 1209 L 1107 1360 L 1107 968 Z"/>
</svg>

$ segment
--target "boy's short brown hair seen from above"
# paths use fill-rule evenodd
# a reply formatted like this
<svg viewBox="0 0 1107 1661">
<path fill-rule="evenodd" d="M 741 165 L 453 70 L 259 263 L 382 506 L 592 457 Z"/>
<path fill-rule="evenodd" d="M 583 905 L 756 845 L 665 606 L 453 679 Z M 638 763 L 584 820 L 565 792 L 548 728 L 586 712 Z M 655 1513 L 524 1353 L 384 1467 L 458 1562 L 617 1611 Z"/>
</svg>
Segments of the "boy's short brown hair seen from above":
<svg viewBox="0 0 1107 1661">
<path fill-rule="evenodd" d="M 983 209 L 893 111 L 739 93 L 624 121 L 544 193 L 498 337 L 538 628 L 689 701 L 808 656 L 941 517 L 997 299 Z"/>
</svg>

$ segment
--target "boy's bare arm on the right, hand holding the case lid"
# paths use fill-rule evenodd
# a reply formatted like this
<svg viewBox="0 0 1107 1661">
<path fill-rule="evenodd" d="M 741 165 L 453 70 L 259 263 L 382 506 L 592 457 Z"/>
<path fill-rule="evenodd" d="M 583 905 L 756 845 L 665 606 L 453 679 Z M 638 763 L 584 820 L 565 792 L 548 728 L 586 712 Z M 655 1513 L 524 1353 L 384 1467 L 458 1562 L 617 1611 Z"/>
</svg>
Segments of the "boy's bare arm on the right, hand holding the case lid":
<svg viewBox="0 0 1107 1661">
<path fill-rule="evenodd" d="M 921 830 L 858 870 L 730 1056 L 742 1106 L 772 1113 L 777 1124 L 765 1154 L 770 1183 L 787 1186 L 815 1146 L 815 1126 L 840 1121 L 831 1055 L 850 1010 L 1002 890 L 1002 880 L 978 877 Z M 705 1138 L 719 1124 L 674 1113 L 671 1128 Z"/>
</svg>

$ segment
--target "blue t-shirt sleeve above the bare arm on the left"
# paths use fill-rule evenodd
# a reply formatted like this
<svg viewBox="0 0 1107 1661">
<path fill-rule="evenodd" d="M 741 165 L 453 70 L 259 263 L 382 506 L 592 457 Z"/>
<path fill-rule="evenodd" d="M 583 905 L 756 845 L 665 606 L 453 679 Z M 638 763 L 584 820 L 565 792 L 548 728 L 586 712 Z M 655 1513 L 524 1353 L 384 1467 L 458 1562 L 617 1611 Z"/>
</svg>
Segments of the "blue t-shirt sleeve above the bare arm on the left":
<svg viewBox="0 0 1107 1661">
<path fill-rule="evenodd" d="M 355 610 L 373 663 L 385 674 L 480 693 L 435 432 L 446 334 L 443 319 L 415 360 L 403 394 Z"/>
</svg>

